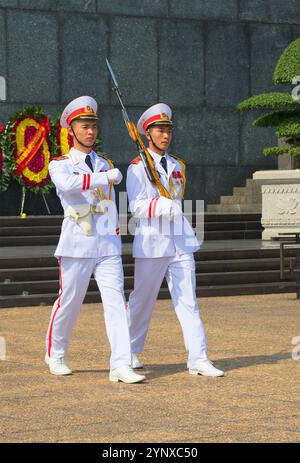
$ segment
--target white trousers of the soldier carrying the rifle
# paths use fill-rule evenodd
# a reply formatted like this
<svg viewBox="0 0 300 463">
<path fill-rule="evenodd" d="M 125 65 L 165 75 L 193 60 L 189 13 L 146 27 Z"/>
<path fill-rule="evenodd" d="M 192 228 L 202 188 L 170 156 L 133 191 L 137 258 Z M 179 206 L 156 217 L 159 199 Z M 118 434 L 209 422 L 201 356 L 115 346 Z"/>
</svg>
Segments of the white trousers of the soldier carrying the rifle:
<svg viewBox="0 0 300 463">
<path fill-rule="evenodd" d="M 143 350 L 152 311 L 166 277 L 173 306 L 180 322 L 188 367 L 207 359 L 206 336 L 196 299 L 193 254 L 175 257 L 136 258 L 134 289 L 127 308 L 131 351 Z"/>
</svg>

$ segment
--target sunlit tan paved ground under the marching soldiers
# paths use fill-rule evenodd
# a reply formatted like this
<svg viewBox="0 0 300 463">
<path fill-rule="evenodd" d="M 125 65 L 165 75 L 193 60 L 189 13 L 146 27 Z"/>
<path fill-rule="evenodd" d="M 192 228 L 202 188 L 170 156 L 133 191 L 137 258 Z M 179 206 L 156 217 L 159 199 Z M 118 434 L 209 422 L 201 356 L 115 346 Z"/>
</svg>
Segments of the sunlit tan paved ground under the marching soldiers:
<svg viewBox="0 0 300 463">
<path fill-rule="evenodd" d="M 108 381 L 100 309 L 83 307 L 69 353 L 74 375 L 61 378 L 43 363 L 50 308 L 0 310 L 0 442 L 300 441 L 293 294 L 201 300 L 210 357 L 224 378 L 187 373 L 170 302 L 158 302 L 143 356 L 148 379 L 137 385 Z"/>
</svg>

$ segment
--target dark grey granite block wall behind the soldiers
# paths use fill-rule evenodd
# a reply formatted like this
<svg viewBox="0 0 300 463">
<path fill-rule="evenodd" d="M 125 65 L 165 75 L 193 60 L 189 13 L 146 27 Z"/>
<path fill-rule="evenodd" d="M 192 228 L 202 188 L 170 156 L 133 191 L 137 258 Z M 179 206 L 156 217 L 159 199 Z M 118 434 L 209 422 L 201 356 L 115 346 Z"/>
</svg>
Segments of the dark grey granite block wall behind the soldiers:
<svg viewBox="0 0 300 463">
<path fill-rule="evenodd" d="M 7 79 L 0 121 L 29 104 L 56 115 L 90 94 L 100 105 L 104 150 L 125 172 L 135 149 L 107 56 L 134 120 L 158 101 L 172 107 L 172 151 L 189 165 L 187 195 L 216 202 L 255 170 L 277 165 L 261 154 L 273 131 L 254 129 L 253 115 L 241 116 L 235 105 L 274 89 L 274 66 L 299 35 L 299 0 L 0 0 Z M 9 190 L 16 204 L 17 189 Z M 13 213 L 7 196 L 0 214 Z M 42 202 L 32 204 L 44 212 Z"/>
</svg>

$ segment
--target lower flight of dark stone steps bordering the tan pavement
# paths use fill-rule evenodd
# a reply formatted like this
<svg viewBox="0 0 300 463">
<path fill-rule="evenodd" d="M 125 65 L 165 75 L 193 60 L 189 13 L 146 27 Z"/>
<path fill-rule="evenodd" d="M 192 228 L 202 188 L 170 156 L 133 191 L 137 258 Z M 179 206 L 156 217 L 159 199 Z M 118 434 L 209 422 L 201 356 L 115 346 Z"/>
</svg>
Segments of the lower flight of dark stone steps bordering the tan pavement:
<svg viewBox="0 0 300 463">
<path fill-rule="evenodd" d="M 20 248 L 22 251 L 22 248 Z M 122 256 L 125 273 L 125 290 L 133 287 L 133 258 L 131 245 L 125 246 Z M 43 252 L 42 250 L 40 252 Z M 50 249 L 49 249 L 50 252 Z M 286 267 L 295 249 L 286 250 Z M 292 282 L 279 279 L 279 249 L 202 249 L 195 254 L 197 294 L 235 295 L 264 294 L 294 291 Z M 0 307 L 53 304 L 59 290 L 57 260 L 52 256 L 0 257 Z M 160 298 L 169 298 L 164 281 Z M 88 302 L 99 301 L 96 282 L 91 281 Z"/>
</svg>

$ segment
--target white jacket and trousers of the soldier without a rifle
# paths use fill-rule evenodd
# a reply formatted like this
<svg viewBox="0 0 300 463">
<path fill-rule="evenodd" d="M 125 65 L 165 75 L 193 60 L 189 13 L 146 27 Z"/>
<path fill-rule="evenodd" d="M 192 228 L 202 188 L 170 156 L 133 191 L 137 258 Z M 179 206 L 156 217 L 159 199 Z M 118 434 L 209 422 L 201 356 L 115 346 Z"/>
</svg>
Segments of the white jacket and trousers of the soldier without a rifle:
<svg viewBox="0 0 300 463">
<path fill-rule="evenodd" d="M 59 261 L 60 291 L 50 317 L 46 349 L 50 358 L 65 357 L 80 306 L 94 274 L 111 346 L 110 368 L 114 370 L 131 365 L 131 351 L 117 212 L 115 207 L 103 210 L 100 207 L 103 203 L 99 201 L 109 198 L 110 204 L 115 206 L 114 190 L 106 173 L 112 165 L 92 151 L 92 172 L 85 157 L 85 153 L 72 148 L 69 155 L 52 160 L 49 165 L 65 217 L 55 251 Z"/>
</svg>

